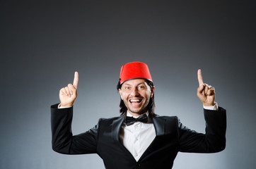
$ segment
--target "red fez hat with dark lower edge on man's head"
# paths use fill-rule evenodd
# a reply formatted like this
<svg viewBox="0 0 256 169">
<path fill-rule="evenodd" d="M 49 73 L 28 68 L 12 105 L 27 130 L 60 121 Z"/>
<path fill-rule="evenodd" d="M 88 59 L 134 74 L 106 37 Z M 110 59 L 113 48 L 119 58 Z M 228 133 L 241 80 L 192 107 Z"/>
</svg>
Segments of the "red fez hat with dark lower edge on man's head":
<svg viewBox="0 0 256 169">
<path fill-rule="evenodd" d="M 131 62 L 123 65 L 120 71 L 120 84 L 132 79 L 146 79 L 153 82 L 148 65 L 142 62 Z"/>
</svg>

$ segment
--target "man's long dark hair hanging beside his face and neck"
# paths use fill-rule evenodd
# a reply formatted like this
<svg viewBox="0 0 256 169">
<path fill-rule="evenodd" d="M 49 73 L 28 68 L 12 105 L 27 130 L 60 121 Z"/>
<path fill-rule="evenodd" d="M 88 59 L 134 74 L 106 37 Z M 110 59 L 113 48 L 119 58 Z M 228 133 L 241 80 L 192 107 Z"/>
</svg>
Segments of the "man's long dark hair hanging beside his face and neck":
<svg viewBox="0 0 256 169">
<path fill-rule="evenodd" d="M 153 88 L 153 82 L 150 80 L 146 80 L 146 83 L 149 84 L 149 87 L 152 89 Z M 117 83 L 117 91 L 121 89 L 122 84 L 120 84 L 120 80 Z M 146 110 L 149 111 L 149 115 L 151 117 L 155 116 L 155 92 L 153 93 L 153 96 L 149 99 L 149 104 L 146 106 Z M 124 115 L 127 112 L 127 106 L 125 106 L 124 101 L 120 97 L 120 113 L 121 115 Z"/>
</svg>

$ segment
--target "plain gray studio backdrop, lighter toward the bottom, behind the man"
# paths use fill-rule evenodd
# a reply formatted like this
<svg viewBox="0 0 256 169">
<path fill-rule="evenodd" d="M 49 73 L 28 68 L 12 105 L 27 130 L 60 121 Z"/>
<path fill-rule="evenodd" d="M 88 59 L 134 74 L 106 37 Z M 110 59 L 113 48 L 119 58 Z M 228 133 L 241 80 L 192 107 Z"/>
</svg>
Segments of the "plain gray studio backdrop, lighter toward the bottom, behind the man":
<svg viewBox="0 0 256 169">
<path fill-rule="evenodd" d="M 226 149 L 173 168 L 255 168 L 253 1 L 1 1 L 0 168 L 104 168 L 51 149 L 50 105 L 79 72 L 72 129 L 119 115 L 124 63 L 149 65 L 156 113 L 204 132 L 197 69 L 227 109 Z"/>
</svg>

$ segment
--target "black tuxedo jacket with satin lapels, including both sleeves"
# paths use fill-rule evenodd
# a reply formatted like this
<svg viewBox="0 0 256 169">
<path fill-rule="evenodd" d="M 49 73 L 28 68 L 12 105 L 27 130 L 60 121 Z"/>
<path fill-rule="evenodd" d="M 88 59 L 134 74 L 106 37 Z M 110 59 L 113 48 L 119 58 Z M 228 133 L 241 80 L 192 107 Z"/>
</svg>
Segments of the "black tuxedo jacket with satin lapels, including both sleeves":
<svg viewBox="0 0 256 169">
<path fill-rule="evenodd" d="M 91 130 L 73 136 L 73 107 L 58 109 L 55 104 L 51 112 L 52 149 L 61 154 L 98 154 L 107 169 L 170 169 L 178 151 L 214 153 L 226 146 L 226 110 L 221 107 L 219 111 L 204 109 L 206 134 L 188 129 L 176 116 L 153 117 L 156 137 L 139 161 L 119 141 L 124 115 L 101 118 Z"/>
</svg>

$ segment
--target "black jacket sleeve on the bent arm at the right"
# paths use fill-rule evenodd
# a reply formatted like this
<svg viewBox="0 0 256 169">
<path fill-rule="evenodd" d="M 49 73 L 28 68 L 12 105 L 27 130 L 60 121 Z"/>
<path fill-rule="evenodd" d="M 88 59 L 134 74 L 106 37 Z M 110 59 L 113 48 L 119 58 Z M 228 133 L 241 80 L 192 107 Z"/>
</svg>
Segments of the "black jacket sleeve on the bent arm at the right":
<svg viewBox="0 0 256 169">
<path fill-rule="evenodd" d="M 190 130 L 178 120 L 178 139 L 181 152 L 215 153 L 226 147 L 226 110 L 204 109 L 205 134 Z"/>
</svg>

